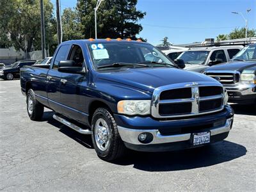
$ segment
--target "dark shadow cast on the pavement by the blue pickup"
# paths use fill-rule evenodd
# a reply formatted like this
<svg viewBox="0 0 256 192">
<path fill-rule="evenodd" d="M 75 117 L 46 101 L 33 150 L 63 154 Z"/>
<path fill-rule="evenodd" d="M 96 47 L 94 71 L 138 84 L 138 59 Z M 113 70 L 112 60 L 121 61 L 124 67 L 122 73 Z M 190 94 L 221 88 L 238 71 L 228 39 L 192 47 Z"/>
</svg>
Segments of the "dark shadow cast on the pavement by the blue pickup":
<svg viewBox="0 0 256 192">
<path fill-rule="evenodd" d="M 86 148 L 93 148 L 90 135 L 79 134 L 66 125 L 52 118 L 52 112 L 45 112 L 43 120 L 60 129 L 60 132 L 77 141 Z M 129 150 L 127 155 L 114 164 L 127 166 L 133 164 L 138 170 L 147 172 L 170 172 L 212 166 L 232 161 L 246 154 L 243 145 L 230 141 L 220 141 L 209 146 L 174 152 L 135 152 Z"/>
</svg>

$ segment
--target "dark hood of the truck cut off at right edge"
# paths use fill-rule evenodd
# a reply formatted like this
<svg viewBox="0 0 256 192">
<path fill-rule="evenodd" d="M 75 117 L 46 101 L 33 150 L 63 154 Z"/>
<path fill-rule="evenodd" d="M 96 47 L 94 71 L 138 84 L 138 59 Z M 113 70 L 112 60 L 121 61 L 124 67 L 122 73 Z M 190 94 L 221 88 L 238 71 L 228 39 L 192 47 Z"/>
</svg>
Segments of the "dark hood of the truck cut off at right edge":
<svg viewBox="0 0 256 192">
<path fill-rule="evenodd" d="M 228 63 L 221 63 L 207 68 L 210 70 L 237 70 L 243 72 L 244 69 L 256 66 L 256 61 L 231 61 Z"/>
</svg>

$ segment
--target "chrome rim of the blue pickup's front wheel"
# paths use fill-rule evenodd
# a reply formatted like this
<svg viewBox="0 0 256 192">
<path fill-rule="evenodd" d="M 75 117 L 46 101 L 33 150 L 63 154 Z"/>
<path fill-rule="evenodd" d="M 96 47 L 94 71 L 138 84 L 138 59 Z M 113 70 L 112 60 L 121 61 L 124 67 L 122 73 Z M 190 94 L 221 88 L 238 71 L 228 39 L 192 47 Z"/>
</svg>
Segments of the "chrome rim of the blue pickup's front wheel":
<svg viewBox="0 0 256 192">
<path fill-rule="evenodd" d="M 103 118 L 99 118 L 95 124 L 95 142 L 97 147 L 105 151 L 109 146 L 109 140 L 111 137 L 107 122 Z"/>
</svg>

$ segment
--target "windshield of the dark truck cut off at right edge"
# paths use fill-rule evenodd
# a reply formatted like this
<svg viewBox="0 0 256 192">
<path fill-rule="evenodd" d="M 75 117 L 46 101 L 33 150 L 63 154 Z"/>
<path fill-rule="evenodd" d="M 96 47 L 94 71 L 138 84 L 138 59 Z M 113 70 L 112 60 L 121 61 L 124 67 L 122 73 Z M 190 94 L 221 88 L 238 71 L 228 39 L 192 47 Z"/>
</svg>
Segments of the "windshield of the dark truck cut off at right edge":
<svg viewBox="0 0 256 192">
<path fill-rule="evenodd" d="M 237 52 L 232 60 L 256 60 L 256 45 L 248 45 Z"/>
</svg>

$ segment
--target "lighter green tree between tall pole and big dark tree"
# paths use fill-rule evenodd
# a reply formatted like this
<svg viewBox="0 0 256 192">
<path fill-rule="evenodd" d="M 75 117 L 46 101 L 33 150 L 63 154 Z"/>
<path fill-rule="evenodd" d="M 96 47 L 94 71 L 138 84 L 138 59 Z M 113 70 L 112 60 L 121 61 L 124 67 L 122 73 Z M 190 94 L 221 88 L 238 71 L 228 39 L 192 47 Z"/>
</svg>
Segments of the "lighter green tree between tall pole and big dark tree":
<svg viewBox="0 0 256 192">
<path fill-rule="evenodd" d="M 77 10 L 73 10 L 72 8 L 65 8 L 62 13 L 61 21 L 63 41 L 83 38 L 83 34 L 79 30 L 79 24 L 81 24 L 81 20 Z"/>
</svg>

